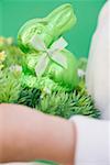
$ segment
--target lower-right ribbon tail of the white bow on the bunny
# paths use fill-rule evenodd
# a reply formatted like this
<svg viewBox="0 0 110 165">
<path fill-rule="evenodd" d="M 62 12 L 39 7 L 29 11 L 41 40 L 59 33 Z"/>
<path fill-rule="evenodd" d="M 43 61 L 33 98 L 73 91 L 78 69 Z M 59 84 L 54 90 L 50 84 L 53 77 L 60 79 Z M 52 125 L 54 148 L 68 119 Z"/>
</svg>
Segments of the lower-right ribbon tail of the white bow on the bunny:
<svg viewBox="0 0 110 165">
<path fill-rule="evenodd" d="M 67 69 L 67 61 L 66 57 L 61 52 L 55 52 L 51 58 L 57 63 L 61 67 Z"/>
</svg>

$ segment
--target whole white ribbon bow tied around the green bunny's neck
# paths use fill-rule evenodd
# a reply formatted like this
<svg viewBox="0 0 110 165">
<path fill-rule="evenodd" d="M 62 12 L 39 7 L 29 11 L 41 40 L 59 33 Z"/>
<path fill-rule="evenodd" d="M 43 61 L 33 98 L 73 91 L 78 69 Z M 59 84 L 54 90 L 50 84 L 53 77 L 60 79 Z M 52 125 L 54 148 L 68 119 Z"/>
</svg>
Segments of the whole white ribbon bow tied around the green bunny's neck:
<svg viewBox="0 0 110 165">
<path fill-rule="evenodd" d="M 63 37 L 59 37 L 51 45 L 50 48 L 47 48 L 44 41 L 37 34 L 32 37 L 31 45 L 35 50 L 43 52 L 35 67 L 35 73 L 37 76 L 42 76 L 44 74 L 50 59 L 61 67 L 67 68 L 66 58 L 61 51 L 64 50 L 68 44 Z"/>
</svg>

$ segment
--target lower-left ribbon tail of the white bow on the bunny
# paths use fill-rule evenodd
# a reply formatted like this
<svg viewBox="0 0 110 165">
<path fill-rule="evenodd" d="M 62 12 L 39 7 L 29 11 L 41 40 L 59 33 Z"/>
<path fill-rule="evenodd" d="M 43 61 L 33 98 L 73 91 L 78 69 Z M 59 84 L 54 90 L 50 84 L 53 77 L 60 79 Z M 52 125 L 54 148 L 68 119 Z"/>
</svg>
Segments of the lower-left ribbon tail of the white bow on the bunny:
<svg viewBox="0 0 110 165">
<path fill-rule="evenodd" d="M 35 67 L 35 73 L 36 76 L 42 76 L 47 67 L 48 64 L 48 57 L 46 56 L 46 54 L 43 54 L 40 59 L 38 59 L 38 64 Z"/>
</svg>

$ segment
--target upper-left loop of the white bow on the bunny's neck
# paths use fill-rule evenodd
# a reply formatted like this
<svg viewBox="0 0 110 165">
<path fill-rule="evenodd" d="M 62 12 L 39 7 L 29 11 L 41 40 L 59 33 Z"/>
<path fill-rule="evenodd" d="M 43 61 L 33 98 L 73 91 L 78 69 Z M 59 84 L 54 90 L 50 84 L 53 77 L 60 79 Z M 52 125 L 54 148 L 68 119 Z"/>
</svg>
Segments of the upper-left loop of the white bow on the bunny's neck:
<svg viewBox="0 0 110 165">
<path fill-rule="evenodd" d="M 41 38 L 41 36 L 34 35 L 31 40 L 31 45 L 36 50 L 36 51 L 45 51 L 46 46 L 44 41 Z"/>
</svg>

